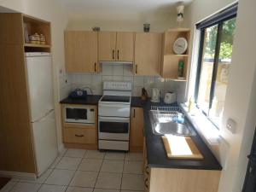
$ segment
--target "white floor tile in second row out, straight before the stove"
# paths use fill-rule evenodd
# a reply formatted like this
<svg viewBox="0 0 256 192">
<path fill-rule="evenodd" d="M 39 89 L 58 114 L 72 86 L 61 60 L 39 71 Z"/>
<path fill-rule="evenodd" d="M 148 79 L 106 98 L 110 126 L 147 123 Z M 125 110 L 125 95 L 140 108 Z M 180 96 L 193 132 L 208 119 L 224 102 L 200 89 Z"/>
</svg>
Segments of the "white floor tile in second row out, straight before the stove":
<svg viewBox="0 0 256 192">
<path fill-rule="evenodd" d="M 118 172 L 122 173 L 124 160 L 104 160 L 101 172 Z"/>
</svg>

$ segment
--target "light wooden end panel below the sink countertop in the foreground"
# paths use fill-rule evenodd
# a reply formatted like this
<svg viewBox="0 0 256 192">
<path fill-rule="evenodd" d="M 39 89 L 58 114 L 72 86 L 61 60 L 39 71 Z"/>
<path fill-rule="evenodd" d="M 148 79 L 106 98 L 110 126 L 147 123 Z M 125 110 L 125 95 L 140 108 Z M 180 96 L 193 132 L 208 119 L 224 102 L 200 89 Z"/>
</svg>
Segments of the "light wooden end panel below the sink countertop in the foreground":
<svg viewBox="0 0 256 192">
<path fill-rule="evenodd" d="M 149 191 L 218 192 L 220 172 L 195 169 L 150 169 Z"/>
</svg>

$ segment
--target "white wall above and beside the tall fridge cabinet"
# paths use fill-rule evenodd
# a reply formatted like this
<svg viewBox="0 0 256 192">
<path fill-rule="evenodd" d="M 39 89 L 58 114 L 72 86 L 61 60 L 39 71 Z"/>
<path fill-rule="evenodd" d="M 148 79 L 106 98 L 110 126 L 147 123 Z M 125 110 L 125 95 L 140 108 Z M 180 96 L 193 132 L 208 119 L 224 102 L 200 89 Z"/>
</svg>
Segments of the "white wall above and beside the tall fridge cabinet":
<svg viewBox="0 0 256 192">
<path fill-rule="evenodd" d="M 54 67 L 55 113 L 59 149 L 61 142 L 61 120 L 59 110 L 59 71 L 64 71 L 64 37 L 67 15 L 63 6 L 55 0 L 2 0 L 0 6 L 14 9 L 26 15 L 32 15 L 51 22 L 52 54 Z"/>
</svg>

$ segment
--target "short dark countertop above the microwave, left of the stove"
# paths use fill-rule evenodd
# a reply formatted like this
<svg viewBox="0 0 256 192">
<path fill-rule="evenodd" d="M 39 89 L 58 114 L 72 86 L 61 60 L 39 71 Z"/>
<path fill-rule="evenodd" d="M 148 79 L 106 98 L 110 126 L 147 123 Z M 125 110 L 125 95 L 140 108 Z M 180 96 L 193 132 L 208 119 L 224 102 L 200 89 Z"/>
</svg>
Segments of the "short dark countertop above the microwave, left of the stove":
<svg viewBox="0 0 256 192">
<path fill-rule="evenodd" d="M 61 100 L 61 104 L 97 105 L 102 96 L 88 95 L 83 99 L 67 97 Z"/>
</svg>

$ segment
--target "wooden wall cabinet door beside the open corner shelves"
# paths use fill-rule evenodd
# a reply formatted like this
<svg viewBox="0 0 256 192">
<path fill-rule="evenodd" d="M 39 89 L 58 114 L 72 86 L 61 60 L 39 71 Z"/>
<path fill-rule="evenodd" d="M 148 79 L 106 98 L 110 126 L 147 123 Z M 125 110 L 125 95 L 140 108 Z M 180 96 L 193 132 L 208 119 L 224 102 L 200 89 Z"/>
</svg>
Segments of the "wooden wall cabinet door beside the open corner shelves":
<svg viewBox="0 0 256 192">
<path fill-rule="evenodd" d="M 135 65 L 137 75 L 159 75 L 162 33 L 137 32 L 135 36 Z"/>
</svg>

